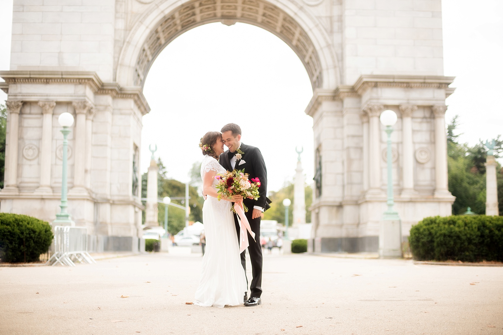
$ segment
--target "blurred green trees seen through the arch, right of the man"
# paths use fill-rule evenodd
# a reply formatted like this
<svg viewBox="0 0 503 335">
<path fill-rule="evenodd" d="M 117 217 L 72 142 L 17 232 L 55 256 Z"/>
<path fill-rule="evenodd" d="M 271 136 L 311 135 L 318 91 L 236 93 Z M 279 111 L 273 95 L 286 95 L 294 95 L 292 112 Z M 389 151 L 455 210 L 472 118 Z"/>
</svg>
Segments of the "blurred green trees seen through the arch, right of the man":
<svg viewBox="0 0 503 335">
<path fill-rule="evenodd" d="M 278 191 L 270 192 L 269 199 L 271 199 L 271 208 L 264 213 L 264 220 L 276 220 L 279 223 L 285 224 L 285 207 L 283 206 L 283 199 L 288 198 L 292 200 L 292 205 L 288 211 L 290 224 L 293 220 L 293 188 L 292 182 L 288 182 Z M 305 202 L 306 202 L 306 222 L 311 222 L 311 211 L 308 208 L 312 203 L 312 189 L 309 185 L 305 186 Z"/>
</svg>

